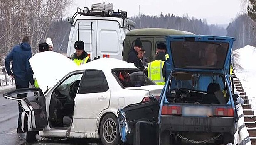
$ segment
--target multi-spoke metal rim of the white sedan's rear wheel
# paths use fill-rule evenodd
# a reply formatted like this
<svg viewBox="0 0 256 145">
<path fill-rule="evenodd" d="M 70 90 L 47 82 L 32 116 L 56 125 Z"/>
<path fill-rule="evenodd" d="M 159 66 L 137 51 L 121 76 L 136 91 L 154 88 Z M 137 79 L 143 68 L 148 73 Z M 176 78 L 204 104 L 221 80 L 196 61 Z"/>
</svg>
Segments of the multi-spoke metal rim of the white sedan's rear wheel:
<svg viewBox="0 0 256 145">
<path fill-rule="evenodd" d="M 103 124 L 103 137 L 107 143 L 113 143 L 116 139 L 116 123 L 112 118 L 108 118 Z"/>
</svg>

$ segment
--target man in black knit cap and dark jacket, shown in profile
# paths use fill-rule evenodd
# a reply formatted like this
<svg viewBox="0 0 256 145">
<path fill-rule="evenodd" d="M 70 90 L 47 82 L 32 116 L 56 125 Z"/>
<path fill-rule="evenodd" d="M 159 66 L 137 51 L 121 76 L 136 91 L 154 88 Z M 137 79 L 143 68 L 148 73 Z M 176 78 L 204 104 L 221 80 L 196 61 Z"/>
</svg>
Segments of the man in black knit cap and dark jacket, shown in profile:
<svg viewBox="0 0 256 145">
<path fill-rule="evenodd" d="M 135 40 L 134 47 L 130 49 L 129 56 L 128 56 L 128 63 L 134 63 L 134 65 L 139 68 L 141 71 L 144 70 L 144 66 L 140 59 L 138 58 L 138 53 L 141 50 L 142 43 L 140 41 L 140 38 L 137 38 Z"/>
</svg>

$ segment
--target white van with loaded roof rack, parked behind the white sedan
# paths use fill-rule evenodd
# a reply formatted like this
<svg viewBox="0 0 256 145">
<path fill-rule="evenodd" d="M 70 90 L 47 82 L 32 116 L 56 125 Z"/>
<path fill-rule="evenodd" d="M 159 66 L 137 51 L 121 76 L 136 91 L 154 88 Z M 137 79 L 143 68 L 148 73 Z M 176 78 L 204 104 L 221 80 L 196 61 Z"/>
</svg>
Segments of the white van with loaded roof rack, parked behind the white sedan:
<svg viewBox="0 0 256 145">
<path fill-rule="evenodd" d="M 77 8 L 72 18 L 67 57 L 74 52 L 74 43 L 84 42 L 84 50 L 91 60 L 111 57 L 122 60 L 123 41 L 125 34 L 135 27 L 135 22 L 127 18 L 127 12 L 114 12 L 112 4 L 94 4 L 91 10 Z"/>
</svg>

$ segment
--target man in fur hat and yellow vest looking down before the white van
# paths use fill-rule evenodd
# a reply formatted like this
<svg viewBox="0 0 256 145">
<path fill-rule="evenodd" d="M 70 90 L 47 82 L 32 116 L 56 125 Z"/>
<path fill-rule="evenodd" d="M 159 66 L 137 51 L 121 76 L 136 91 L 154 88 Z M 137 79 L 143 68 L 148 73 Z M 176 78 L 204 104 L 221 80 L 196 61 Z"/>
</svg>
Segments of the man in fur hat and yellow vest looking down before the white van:
<svg viewBox="0 0 256 145">
<path fill-rule="evenodd" d="M 75 42 L 76 53 L 71 56 L 71 60 L 73 60 L 78 66 L 84 63 L 88 63 L 90 60 L 87 52 L 84 50 L 84 42 L 79 40 Z"/>
</svg>

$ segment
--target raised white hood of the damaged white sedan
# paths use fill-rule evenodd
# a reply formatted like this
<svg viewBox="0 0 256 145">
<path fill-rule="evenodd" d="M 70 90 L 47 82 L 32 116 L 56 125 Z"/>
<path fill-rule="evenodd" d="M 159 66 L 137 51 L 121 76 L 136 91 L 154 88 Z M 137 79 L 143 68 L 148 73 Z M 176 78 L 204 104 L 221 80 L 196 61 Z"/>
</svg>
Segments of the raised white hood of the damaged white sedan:
<svg viewBox="0 0 256 145">
<path fill-rule="evenodd" d="M 79 68 L 66 56 L 53 51 L 36 53 L 29 62 L 42 92 L 45 92 L 47 87 L 52 88 L 69 72 Z"/>
</svg>

